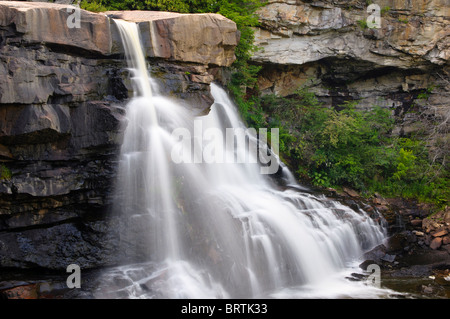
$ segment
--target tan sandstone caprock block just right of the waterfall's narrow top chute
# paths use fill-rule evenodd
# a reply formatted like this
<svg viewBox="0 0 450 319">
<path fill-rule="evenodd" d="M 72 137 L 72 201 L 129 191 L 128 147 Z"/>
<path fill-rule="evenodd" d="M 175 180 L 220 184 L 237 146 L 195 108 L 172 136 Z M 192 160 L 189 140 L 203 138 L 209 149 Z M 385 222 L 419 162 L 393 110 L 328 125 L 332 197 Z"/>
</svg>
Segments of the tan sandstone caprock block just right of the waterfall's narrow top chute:
<svg viewBox="0 0 450 319">
<path fill-rule="evenodd" d="M 229 66 L 239 41 L 236 23 L 216 13 L 107 11 L 113 19 L 136 22 L 147 57 Z M 114 49 L 121 50 L 114 45 Z"/>
</svg>

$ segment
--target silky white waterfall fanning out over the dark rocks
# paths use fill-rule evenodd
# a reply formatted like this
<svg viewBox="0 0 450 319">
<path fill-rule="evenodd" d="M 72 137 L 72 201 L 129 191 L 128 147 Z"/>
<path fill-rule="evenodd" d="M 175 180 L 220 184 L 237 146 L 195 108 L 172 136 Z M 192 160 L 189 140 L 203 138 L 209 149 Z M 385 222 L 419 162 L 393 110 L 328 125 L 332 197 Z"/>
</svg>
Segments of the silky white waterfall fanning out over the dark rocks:
<svg viewBox="0 0 450 319">
<path fill-rule="evenodd" d="M 215 103 L 202 117 L 152 96 L 138 28 L 115 22 L 136 93 L 127 105 L 116 207 L 128 225 L 124 247 L 141 258 L 106 277 L 127 282 L 121 291 L 130 298 L 295 298 L 315 296 L 316 288 L 317 296 L 347 290 L 363 296 L 376 290 L 343 275 L 385 237 L 365 212 L 299 191 L 289 172 L 294 187 L 280 187 L 260 173 L 259 164 L 173 161 L 176 129 L 194 133 L 194 123 L 221 132 L 245 126 L 214 84 Z M 199 141 L 193 135 L 200 150 L 223 145 L 221 136 Z M 248 156 L 242 145 L 232 152 Z"/>
</svg>

